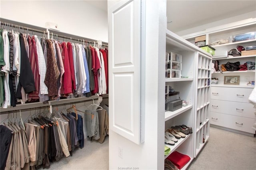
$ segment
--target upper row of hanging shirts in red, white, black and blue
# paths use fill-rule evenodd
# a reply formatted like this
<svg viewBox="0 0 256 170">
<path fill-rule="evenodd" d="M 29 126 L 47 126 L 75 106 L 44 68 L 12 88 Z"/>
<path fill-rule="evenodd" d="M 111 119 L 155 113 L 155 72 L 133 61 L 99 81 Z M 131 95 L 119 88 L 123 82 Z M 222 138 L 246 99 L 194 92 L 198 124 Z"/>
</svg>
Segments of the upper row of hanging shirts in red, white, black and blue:
<svg viewBox="0 0 256 170">
<path fill-rule="evenodd" d="M 108 93 L 107 49 L 6 30 L 0 41 L 1 107 Z"/>
</svg>

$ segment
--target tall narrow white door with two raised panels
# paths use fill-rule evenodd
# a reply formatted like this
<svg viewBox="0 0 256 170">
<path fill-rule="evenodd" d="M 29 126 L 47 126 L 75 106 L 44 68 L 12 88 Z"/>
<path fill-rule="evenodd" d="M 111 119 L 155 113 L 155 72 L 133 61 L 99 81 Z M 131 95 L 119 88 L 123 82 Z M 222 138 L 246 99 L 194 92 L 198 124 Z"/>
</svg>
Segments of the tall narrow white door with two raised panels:
<svg viewBox="0 0 256 170">
<path fill-rule="evenodd" d="M 126 0 L 108 9 L 110 130 L 140 144 L 141 1 Z"/>
</svg>

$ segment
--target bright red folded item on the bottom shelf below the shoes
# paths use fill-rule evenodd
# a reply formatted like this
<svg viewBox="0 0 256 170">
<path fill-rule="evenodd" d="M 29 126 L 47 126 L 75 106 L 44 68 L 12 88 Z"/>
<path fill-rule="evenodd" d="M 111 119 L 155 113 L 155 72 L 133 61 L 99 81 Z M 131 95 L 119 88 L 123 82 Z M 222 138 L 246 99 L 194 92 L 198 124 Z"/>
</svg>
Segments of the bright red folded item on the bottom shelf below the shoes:
<svg viewBox="0 0 256 170">
<path fill-rule="evenodd" d="M 181 154 L 177 151 L 172 152 L 166 159 L 170 160 L 179 169 L 190 161 L 190 157 L 188 155 Z"/>
</svg>

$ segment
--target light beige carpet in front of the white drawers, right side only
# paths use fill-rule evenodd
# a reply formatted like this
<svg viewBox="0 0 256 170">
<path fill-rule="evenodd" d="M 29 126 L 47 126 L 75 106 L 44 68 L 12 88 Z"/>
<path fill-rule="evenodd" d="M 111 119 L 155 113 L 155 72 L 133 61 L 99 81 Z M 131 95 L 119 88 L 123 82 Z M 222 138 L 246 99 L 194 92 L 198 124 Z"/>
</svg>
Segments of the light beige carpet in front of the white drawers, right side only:
<svg viewBox="0 0 256 170">
<path fill-rule="evenodd" d="M 210 127 L 210 138 L 188 170 L 256 170 L 256 138 Z"/>
</svg>

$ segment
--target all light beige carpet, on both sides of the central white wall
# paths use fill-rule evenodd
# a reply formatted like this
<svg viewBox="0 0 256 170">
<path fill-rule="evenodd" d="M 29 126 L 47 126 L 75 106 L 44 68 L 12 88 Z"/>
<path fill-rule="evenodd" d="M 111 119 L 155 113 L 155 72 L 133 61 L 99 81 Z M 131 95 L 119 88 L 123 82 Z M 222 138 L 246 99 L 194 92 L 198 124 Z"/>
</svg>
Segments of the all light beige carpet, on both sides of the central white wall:
<svg viewBox="0 0 256 170">
<path fill-rule="evenodd" d="M 108 136 L 103 144 L 85 140 L 83 149 L 49 169 L 108 170 Z M 256 138 L 210 127 L 208 142 L 188 170 L 256 170 Z"/>
</svg>

